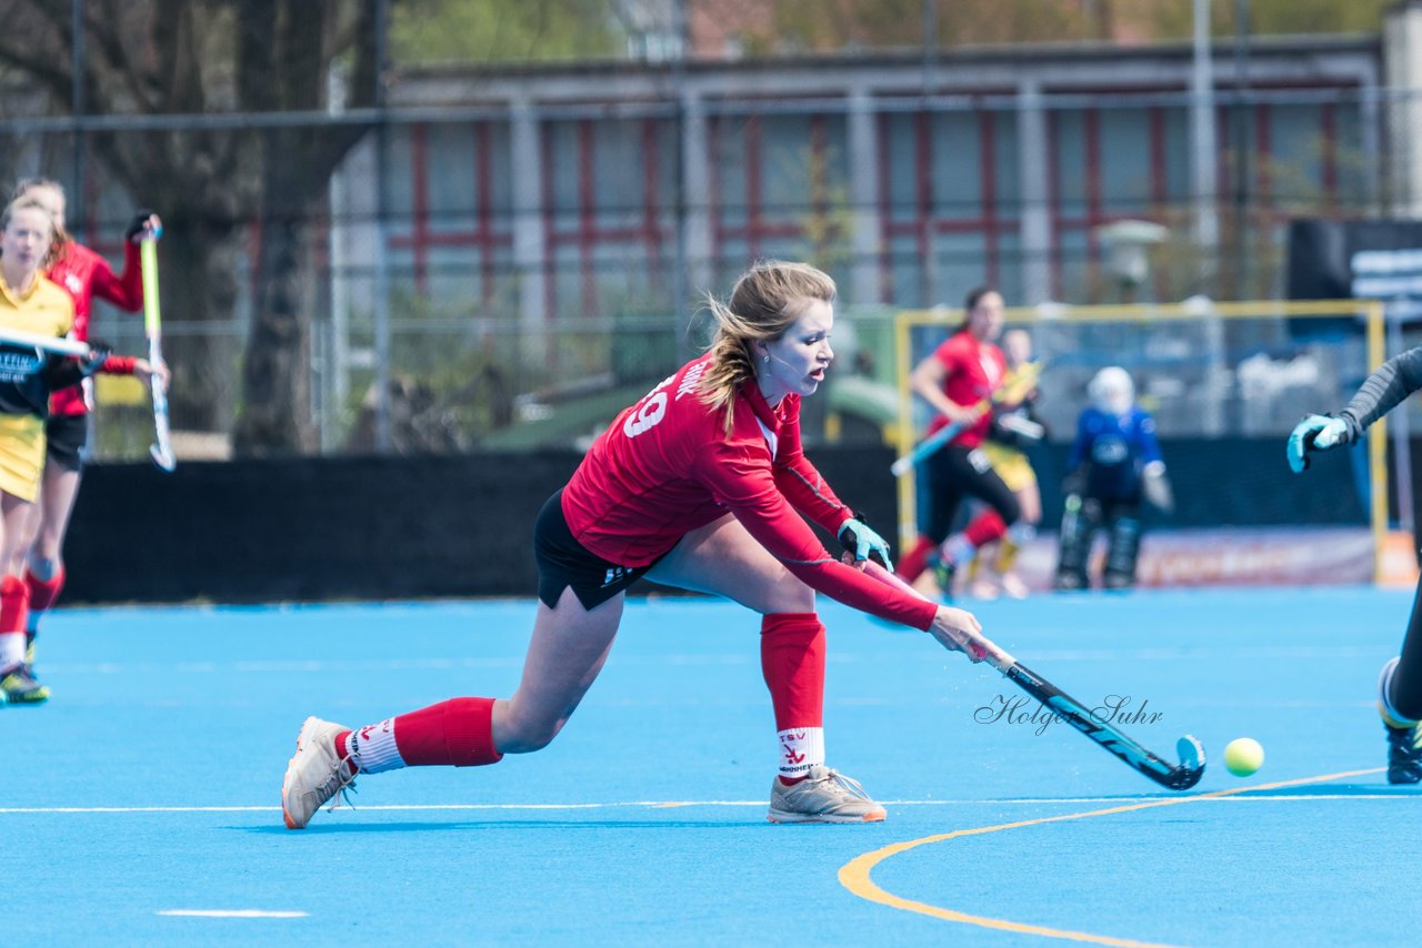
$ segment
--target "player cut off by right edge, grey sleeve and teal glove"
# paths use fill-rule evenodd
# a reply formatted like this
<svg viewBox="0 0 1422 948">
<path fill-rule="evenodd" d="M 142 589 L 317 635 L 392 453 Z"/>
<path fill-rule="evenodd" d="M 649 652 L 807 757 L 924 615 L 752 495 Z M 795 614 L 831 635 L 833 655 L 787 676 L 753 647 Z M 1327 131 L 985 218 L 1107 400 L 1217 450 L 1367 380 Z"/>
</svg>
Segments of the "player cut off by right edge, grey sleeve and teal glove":
<svg viewBox="0 0 1422 948">
<path fill-rule="evenodd" d="M 1337 415 L 1308 415 L 1288 435 L 1288 466 L 1308 469 L 1308 455 L 1362 439 L 1368 425 L 1422 388 L 1422 347 L 1384 362 Z M 1402 637 L 1402 654 L 1378 677 L 1378 711 L 1388 733 L 1388 783 L 1422 782 L 1422 584 Z"/>
</svg>

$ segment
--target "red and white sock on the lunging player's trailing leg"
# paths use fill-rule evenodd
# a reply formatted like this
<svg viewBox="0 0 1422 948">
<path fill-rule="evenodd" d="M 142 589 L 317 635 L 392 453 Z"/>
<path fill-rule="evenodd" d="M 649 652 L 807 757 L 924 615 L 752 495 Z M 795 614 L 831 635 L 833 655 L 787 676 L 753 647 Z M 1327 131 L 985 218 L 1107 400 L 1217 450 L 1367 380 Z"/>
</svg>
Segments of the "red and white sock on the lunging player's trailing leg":
<svg viewBox="0 0 1422 948">
<path fill-rule="evenodd" d="M 354 735 L 363 773 L 435 765 L 474 767 L 503 759 L 493 746 L 493 698 L 451 698 L 344 732 L 336 738 L 341 756 L 347 755 L 347 735 Z"/>
</svg>

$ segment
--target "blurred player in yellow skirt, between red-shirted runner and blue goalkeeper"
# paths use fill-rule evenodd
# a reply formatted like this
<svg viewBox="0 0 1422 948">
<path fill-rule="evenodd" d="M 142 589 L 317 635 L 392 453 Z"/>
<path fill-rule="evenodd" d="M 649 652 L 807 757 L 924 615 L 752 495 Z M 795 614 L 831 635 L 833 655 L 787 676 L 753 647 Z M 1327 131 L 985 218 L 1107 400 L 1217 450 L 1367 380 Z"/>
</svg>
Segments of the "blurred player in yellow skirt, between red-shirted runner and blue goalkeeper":
<svg viewBox="0 0 1422 948">
<path fill-rule="evenodd" d="M 1032 362 L 1032 337 L 1027 330 L 1008 330 L 1003 334 L 1003 355 L 1007 357 L 1004 389 L 1012 389 L 1017 378 L 1037 372 L 1037 365 Z M 975 598 L 995 598 L 998 587 L 1012 598 L 1027 597 L 1027 583 L 1012 567 L 1042 519 L 1042 493 L 1037 485 L 1037 472 L 1022 451 L 1047 433 L 1032 411 L 1037 395 L 1038 389 L 1032 388 L 1021 402 L 997 412 L 983 442 L 983 453 L 997 476 L 1017 496 L 1022 513 L 1001 540 L 978 550 L 967 569 L 964 577 L 968 584 L 967 593 Z"/>
</svg>

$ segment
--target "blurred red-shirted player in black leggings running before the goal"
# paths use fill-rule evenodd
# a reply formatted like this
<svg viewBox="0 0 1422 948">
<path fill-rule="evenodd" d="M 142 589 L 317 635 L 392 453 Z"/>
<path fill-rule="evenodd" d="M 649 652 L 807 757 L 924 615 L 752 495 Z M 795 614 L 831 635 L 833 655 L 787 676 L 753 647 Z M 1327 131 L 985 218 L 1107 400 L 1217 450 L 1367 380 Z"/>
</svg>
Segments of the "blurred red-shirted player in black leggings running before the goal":
<svg viewBox="0 0 1422 948">
<path fill-rule="evenodd" d="M 980 546 L 1000 539 L 1021 516 L 1012 490 L 993 470 L 981 451 L 993 424 L 993 412 L 981 402 L 1003 388 L 1007 358 L 997 347 L 1003 331 L 1003 294 L 980 287 L 968 293 L 963 323 L 909 378 L 914 394 L 939 416 L 929 425 L 933 435 L 946 425 L 963 429 L 923 462 L 927 469 L 929 522 L 924 533 L 899 563 L 899 576 L 913 583 L 931 566 L 944 597 L 951 596 L 953 574 L 973 559 Z M 961 532 L 948 536 L 958 505 L 977 497 L 987 509 Z"/>
</svg>

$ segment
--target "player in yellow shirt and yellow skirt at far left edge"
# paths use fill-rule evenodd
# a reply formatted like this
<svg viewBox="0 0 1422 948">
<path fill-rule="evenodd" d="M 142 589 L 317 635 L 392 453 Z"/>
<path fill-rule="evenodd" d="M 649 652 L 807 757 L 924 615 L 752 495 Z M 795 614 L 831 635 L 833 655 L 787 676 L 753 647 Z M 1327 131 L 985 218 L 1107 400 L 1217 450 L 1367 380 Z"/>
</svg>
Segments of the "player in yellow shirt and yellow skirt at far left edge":
<svg viewBox="0 0 1422 948">
<path fill-rule="evenodd" d="M 4 209 L 0 227 L 0 338 L 3 330 L 64 337 L 74 325 L 74 301 L 40 269 L 54 239 L 48 209 L 36 198 L 18 198 Z M 44 470 L 44 419 L 50 394 L 78 384 L 107 355 L 97 348 L 81 362 L 0 341 L 0 704 L 38 704 L 50 696 L 26 668 L 30 597 L 20 578 Z"/>
</svg>

